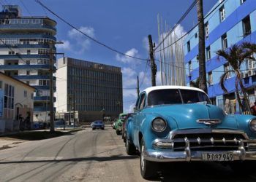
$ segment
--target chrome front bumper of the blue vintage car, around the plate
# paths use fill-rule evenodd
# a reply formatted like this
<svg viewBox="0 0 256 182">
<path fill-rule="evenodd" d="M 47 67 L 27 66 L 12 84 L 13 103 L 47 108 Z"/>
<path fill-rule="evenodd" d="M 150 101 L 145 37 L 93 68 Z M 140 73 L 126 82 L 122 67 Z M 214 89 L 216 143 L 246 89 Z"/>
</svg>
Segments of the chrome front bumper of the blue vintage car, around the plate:
<svg viewBox="0 0 256 182">
<path fill-rule="evenodd" d="M 190 162 L 203 161 L 203 153 L 232 153 L 234 161 L 256 160 L 256 151 L 145 151 L 144 157 L 153 162 Z"/>
</svg>

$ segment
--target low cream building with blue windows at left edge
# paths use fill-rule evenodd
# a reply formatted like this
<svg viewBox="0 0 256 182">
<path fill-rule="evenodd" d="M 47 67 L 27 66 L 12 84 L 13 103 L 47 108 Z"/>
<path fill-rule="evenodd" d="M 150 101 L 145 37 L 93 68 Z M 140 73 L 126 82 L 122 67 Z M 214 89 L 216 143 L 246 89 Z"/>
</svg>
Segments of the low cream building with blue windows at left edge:
<svg viewBox="0 0 256 182">
<path fill-rule="evenodd" d="M 0 133 L 19 130 L 19 119 L 33 122 L 35 88 L 0 72 Z"/>
</svg>

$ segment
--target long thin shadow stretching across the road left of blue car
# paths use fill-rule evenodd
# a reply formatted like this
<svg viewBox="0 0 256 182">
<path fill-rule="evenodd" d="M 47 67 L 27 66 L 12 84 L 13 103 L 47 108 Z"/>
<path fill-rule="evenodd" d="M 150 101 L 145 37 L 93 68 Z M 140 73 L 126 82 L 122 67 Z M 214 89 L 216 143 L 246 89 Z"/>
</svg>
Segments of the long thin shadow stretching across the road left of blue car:
<svg viewBox="0 0 256 182">
<path fill-rule="evenodd" d="M 37 163 L 37 162 L 86 162 L 86 161 L 96 161 L 96 162 L 105 162 L 105 161 L 114 161 L 114 160 L 125 160 L 125 159 L 136 159 L 136 156 L 110 156 L 110 157 L 78 157 L 70 159 L 45 159 L 45 160 L 22 160 L 22 161 L 0 161 L 0 165 L 7 164 L 25 164 L 25 163 Z"/>
</svg>

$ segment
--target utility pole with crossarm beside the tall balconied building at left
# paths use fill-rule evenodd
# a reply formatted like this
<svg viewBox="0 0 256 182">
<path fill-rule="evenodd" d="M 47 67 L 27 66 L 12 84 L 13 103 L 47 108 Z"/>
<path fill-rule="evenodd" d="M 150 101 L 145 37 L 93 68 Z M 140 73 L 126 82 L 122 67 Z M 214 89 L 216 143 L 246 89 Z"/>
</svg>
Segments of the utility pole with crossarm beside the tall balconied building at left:
<svg viewBox="0 0 256 182">
<path fill-rule="evenodd" d="M 50 48 L 50 132 L 54 132 L 54 111 L 53 111 L 53 44 L 63 44 L 63 42 L 50 42 L 49 48 Z"/>
</svg>

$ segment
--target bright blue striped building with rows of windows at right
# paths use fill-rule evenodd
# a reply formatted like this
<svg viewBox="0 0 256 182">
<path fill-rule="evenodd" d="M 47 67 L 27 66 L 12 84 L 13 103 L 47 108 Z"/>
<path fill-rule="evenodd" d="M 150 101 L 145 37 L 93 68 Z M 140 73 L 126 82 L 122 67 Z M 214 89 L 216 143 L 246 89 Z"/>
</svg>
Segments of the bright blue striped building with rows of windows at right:
<svg viewBox="0 0 256 182">
<path fill-rule="evenodd" d="M 236 104 L 235 77 L 227 75 L 225 85 L 228 94 L 221 89 L 219 79 L 230 66 L 223 58 L 218 58 L 217 50 L 227 49 L 232 44 L 243 41 L 256 42 L 256 1 L 223 0 L 208 12 L 205 18 L 206 31 L 206 74 L 208 95 L 214 104 L 225 108 L 229 113 L 238 113 Z M 198 28 L 192 30 L 184 41 L 184 63 L 186 66 L 186 83 L 198 78 Z M 247 60 L 241 67 L 244 84 L 250 103 L 255 101 L 256 64 Z"/>
</svg>

